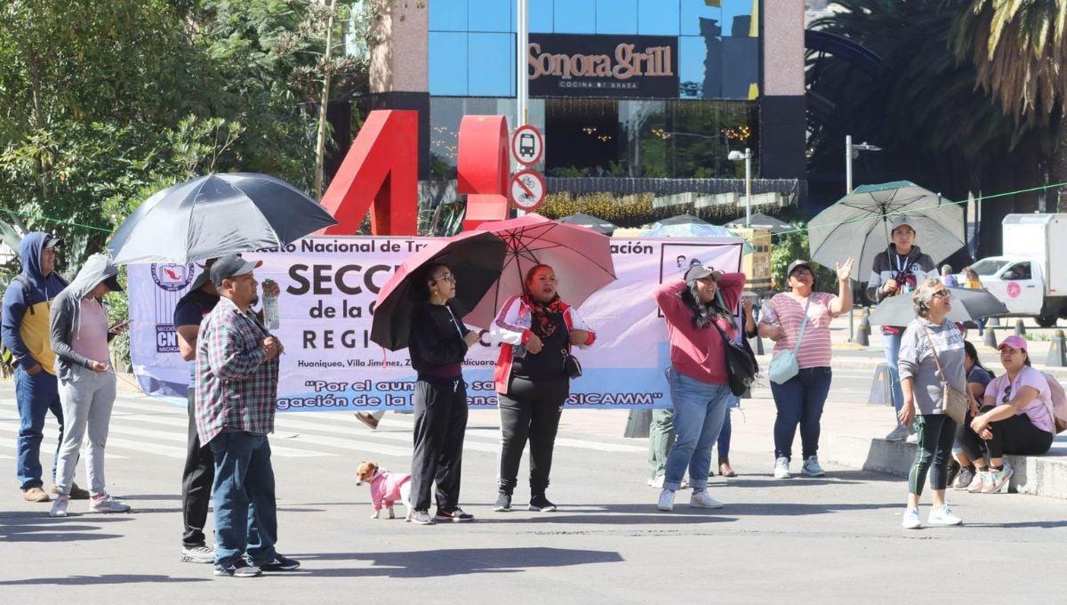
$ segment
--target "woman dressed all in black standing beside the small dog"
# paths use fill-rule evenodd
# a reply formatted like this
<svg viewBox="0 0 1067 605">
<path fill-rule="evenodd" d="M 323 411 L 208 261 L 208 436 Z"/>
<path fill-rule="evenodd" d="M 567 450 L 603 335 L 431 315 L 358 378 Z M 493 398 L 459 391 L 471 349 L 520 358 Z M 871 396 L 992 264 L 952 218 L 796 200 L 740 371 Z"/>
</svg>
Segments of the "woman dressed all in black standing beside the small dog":
<svg viewBox="0 0 1067 605">
<path fill-rule="evenodd" d="M 415 277 L 418 301 L 411 313 L 408 350 L 418 375 L 414 405 L 415 451 L 411 460 L 412 521 L 473 521 L 459 506 L 466 432 L 466 383 L 461 364 L 478 333 L 460 321 L 462 313 L 449 302 L 456 297 L 456 276 L 444 265 L 428 265 Z M 436 514 L 430 516 L 430 489 L 436 482 Z"/>
</svg>

